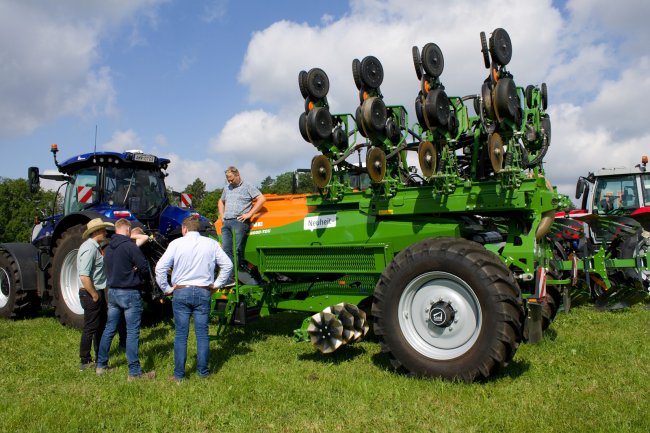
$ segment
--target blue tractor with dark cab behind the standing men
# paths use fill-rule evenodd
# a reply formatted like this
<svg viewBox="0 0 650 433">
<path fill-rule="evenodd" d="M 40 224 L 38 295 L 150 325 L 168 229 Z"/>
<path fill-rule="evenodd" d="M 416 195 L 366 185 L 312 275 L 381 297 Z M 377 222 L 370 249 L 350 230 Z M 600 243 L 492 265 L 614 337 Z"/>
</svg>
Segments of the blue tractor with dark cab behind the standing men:
<svg viewBox="0 0 650 433">
<path fill-rule="evenodd" d="M 165 187 L 169 159 L 141 151 L 93 152 L 59 163 L 57 152 L 53 144 L 60 174 L 30 167 L 28 178 L 32 192 L 40 179 L 63 182 L 63 213 L 38 221 L 31 243 L 0 244 L 0 317 L 28 317 L 51 305 L 61 323 L 81 328 L 76 258 L 88 221 L 126 218 L 142 227 L 150 235 L 142 249 L 153 270 L 169 242 L 181 236 L 183 219 L 196 212 L 170 204 Z M 204 235 L 216 236 L 208 219 L 199 216 L 199 221 Z M 153 278 L 145 291 L 143 299 L 155 304 L 160 298 Z"/>
</svg>

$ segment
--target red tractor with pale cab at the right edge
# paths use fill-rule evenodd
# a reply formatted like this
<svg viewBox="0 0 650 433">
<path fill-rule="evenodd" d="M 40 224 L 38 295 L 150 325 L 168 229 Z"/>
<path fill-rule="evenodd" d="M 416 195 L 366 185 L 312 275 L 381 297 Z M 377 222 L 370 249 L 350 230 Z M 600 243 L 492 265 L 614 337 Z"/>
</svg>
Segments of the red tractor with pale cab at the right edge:
<svg viewBox="0 0 650 433">
<path fill-rule="evenodd" d="M 570 298 L 593 300 L 598 308 L 617 309 L 648 301 L 650 274 L 645 255 L 650 248 L 650 174 L 647 156 L 632 168 L 602 168 L 576 185 L 578 210 L 558 212 L 549 239 L 557 256 L 572 261 L 595 258 L 601 272 L 588 273 L 573 284 Z M 620 268 L 627 260 L 634 268 Z M 575 265 L 572 266 L 575 269 Z"/>
</svg>

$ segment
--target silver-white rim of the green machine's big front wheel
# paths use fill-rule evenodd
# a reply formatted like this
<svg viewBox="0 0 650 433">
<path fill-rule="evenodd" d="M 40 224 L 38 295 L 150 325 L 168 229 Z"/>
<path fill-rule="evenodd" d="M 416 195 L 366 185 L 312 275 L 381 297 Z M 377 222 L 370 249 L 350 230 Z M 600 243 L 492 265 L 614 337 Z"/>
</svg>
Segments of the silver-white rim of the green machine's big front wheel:
<svg viewBox="0 0 650 433">
<path fill-rule="evenodd" d="M 404 289 L 398 308 L 404 338 L 429 358 L 447 360 L 463 355 L 474 346 L 481 331 L 476 294 L 465 281 L 447 272 L 427 272 L 413 279 Z M 446 309 L 451 321 L 435 324 L 433 309 Z"/>
</svg>

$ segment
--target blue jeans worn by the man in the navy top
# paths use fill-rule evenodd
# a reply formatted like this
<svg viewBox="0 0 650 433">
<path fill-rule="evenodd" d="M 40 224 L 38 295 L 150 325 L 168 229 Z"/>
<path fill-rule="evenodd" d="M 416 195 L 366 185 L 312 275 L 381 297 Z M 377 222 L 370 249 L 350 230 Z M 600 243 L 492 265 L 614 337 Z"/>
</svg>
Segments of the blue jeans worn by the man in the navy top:
<svg viewBox="0 0 650 433">
<path fill-rule="evenodd" d="M 108 289 L 108 319 L 99 343 L 97 367 L 108 366 L 108 351 L 120 323 L 120 315 L 126 318 L 126 361 L 129 364 L 129 376 L 142 374 L 138 346 L 140 344 L 140 319 L 142 318 L 142 298 L 135 289 Z"/>
</svg>

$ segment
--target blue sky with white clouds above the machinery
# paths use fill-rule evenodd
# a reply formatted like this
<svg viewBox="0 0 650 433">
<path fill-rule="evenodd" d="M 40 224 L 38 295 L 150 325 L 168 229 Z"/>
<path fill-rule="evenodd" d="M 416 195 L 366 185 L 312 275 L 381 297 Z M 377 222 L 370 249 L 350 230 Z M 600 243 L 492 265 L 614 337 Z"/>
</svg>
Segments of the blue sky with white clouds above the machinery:
<svg viewBox="0 0 650 433">
<path fill-rule="evenodd" d="M 481 31 L 508 31 L 518 86 L 547 83 L 547 177 L 650 154 L 650 2 L 639 0 L 0 0 L 0 177 L 55 173 L 80 153 L 171 159 L 167 183 L 259 185 L 308 168 L 298 72 L 320 67 L 333 113 L 354 113 L 354 58 L 383 64 L 381 91 L 415 122 L 411 47 L 435 42 L 449 95 L 480 92 Z M 97 134 L 96 134 L 97 131 Z M 97 135 L 95 138 L 95 134 Z"/>
</svg>

